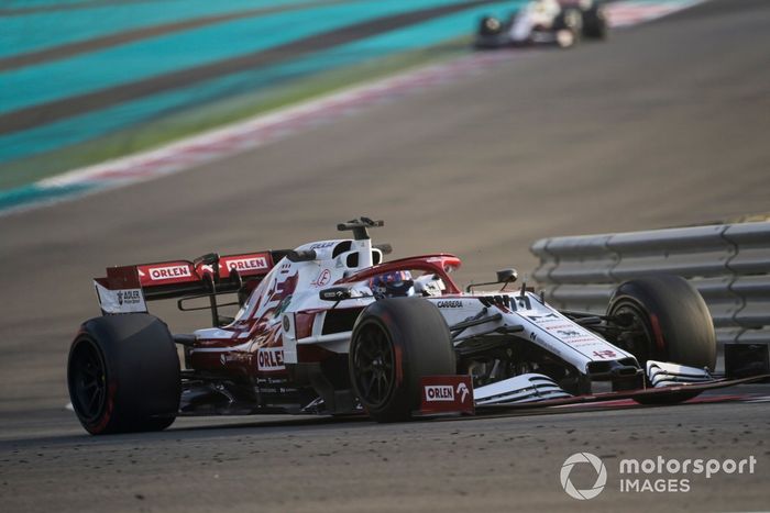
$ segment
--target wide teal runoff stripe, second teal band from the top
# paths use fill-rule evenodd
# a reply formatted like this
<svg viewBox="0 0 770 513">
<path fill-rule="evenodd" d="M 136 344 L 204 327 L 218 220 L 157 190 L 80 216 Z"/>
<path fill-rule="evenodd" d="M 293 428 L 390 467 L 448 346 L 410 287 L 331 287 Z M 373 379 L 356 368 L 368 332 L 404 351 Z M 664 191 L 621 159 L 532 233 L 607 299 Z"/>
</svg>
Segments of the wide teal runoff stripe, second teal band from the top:
<svg viewBox="0 0 770 513">
<path fill-rule="evenodd" d="M 459 0 L 366 1 L 245 19 L 3 75 L 0 112 L 215 63 L 350 24 Z M 463 27 L 470 30 L 469 27 Z"/>
</svg>

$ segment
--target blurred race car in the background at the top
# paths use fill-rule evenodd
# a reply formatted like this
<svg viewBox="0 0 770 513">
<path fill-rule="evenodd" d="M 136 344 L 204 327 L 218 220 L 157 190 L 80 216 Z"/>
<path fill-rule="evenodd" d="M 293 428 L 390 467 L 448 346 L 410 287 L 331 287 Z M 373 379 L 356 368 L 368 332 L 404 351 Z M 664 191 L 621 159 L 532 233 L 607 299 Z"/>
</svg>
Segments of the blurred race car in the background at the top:
<svg viewBox="0 0 770 513">
<path fill-rule="evenodd" d="M 507 20 L 482 18 L 474 46 L 479 49 L 524 45 L 569 48 L 583 37 L 606 36 L 607 20 L 601 0 L 535 0 Z"/>
</svg>

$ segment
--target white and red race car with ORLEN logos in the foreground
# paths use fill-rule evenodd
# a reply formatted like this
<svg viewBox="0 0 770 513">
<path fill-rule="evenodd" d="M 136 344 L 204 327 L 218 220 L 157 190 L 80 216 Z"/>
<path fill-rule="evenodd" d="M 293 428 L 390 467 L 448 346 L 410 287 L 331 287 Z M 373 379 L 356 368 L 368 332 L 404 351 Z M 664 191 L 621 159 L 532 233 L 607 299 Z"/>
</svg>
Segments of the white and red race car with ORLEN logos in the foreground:
<svg viewBox="0 0 770 513">
<path fill-rule="evenodd" d="M 108 268 L 95 280 L 102 315 L 69 352 L 82 426 L 153 431 L 178 415 L 258 413 L 395 422 L 607 398 L 678 402 L 721 383 L 708 373 L 708 311 L 681 278 L 628 281 L 605 315 L 558 311 L 513 287 L 513 269 L 462 291 L 453 255 L 384 261 L 389 246 L 369 234 L 382 225 L 361 218 L 338 225 L 352 238 L 293 250 Z M 238 298 L 233 317 L 221 294 Z M 210 310 L 212 326 L 172 334 L 147 313 L 161 299 Z M 600 381 L 613 391 L 591 395 Z"/>
</svg>

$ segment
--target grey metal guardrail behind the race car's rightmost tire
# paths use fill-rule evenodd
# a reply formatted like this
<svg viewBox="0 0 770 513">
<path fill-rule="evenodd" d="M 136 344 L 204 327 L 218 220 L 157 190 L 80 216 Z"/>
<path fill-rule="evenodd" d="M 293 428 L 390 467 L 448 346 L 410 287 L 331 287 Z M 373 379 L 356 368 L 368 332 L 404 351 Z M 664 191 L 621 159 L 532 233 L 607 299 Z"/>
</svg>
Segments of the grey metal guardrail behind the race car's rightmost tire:
<svg viewBox="0 0 770 513">
<path fill-rule="evenodd" d="M 686 278 L 708 304 L 717 343 L 770 343 L 770 222 L 542 238 L 535 278 L 562 309 L 602 313 L 631 278 Z"/>
</svg>

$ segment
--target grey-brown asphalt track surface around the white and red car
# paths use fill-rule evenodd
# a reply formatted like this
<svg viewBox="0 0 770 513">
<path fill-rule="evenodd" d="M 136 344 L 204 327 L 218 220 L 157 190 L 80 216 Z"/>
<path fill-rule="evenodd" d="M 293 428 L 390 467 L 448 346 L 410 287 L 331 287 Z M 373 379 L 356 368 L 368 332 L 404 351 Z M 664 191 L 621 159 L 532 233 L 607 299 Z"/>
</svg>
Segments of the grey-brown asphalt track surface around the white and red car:
<svg viewBox="0 0 770 513">
<path fill-rule="evenodd" d="M 459 281 L 535 260 L 539 237 L 766 212 L 770 4 L 714 1 L 570 52 L 512 53 L 400 99 L 186 174 L 0 219 L 3 511 L 767 509 L 767 403 L 376 425 L 182 420 L 86 436 L 67 402 L 78 323 L 105 266 L 296 246 L 369 214 L 397 256 L 464 257 Z M 206 321 L 155 312 L 182 331 Z M 768 393 L 768 387 L 738 390 Z M 573 453 L 608 487 L 568 498 Z M 747 458 L 688 493 L 620 493 L 619 458 Z M 574 476 L 578 488 L 591 476 Z"/>
</svg>

